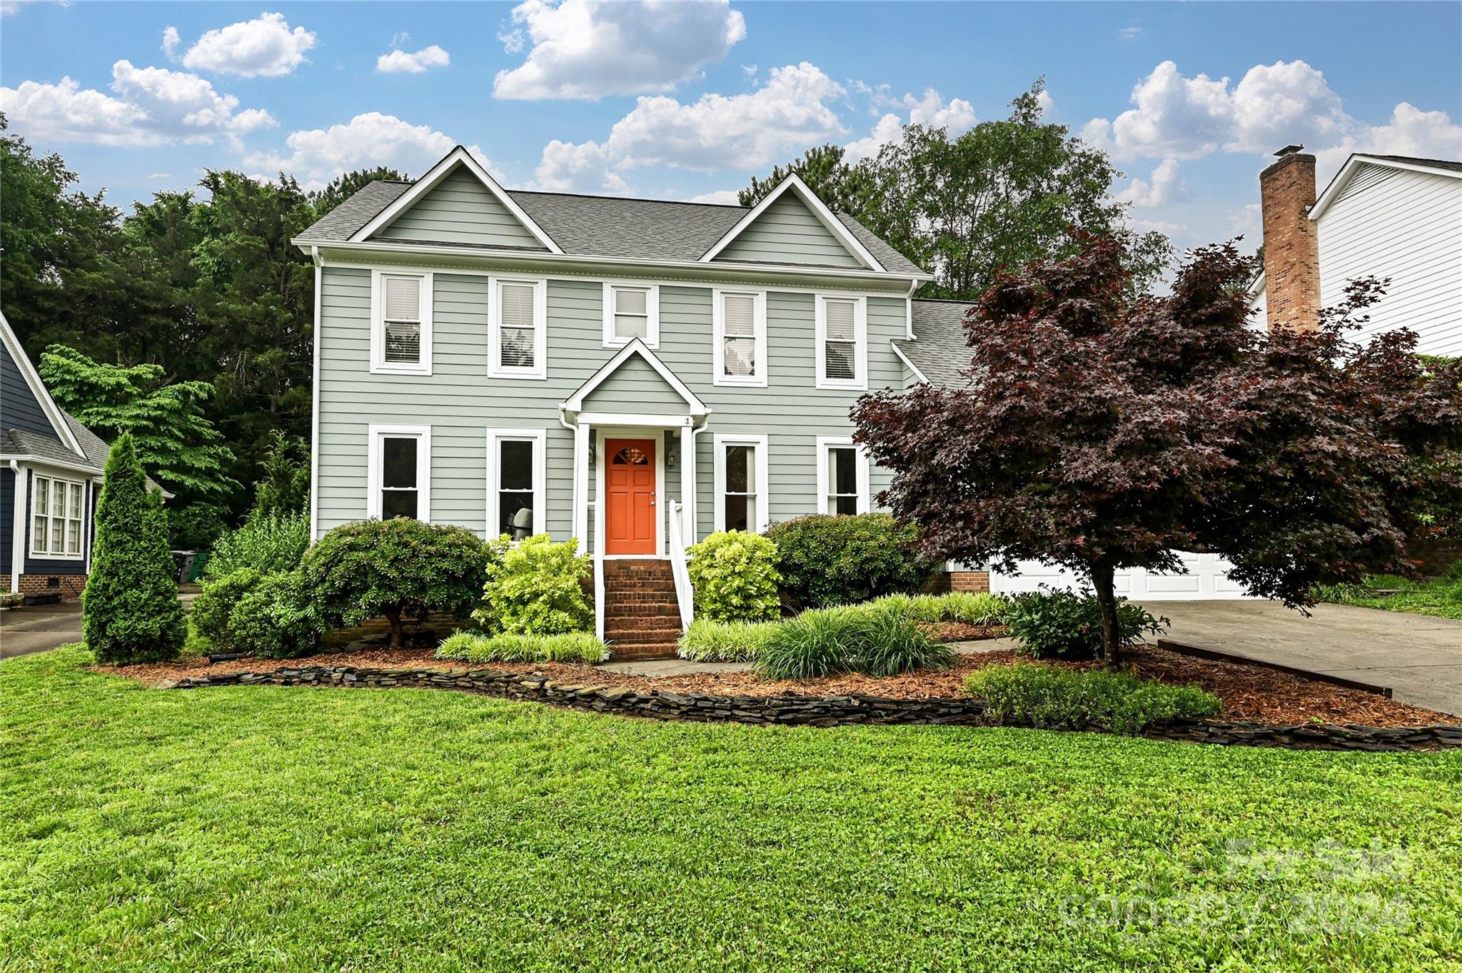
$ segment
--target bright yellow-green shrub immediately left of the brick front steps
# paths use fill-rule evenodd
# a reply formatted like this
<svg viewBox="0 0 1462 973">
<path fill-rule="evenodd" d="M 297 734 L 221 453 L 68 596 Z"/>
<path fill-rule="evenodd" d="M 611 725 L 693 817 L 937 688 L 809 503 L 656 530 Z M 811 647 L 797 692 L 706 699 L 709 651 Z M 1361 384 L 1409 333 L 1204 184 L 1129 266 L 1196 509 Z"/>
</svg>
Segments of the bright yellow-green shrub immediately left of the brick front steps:
<svg viewBox="0 0 1462 973">
<path fill-rule="evenodd" d="M 487 565 L 482 605 L 472 617 L 490 633 L 557 636 L 594 628 L 594 609 L 583 598 L 589 557 L 576 541 L 554 543 L 535 533 L 516 546 L 497 541 L 501 558 Z"/>
</svg>

